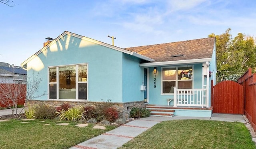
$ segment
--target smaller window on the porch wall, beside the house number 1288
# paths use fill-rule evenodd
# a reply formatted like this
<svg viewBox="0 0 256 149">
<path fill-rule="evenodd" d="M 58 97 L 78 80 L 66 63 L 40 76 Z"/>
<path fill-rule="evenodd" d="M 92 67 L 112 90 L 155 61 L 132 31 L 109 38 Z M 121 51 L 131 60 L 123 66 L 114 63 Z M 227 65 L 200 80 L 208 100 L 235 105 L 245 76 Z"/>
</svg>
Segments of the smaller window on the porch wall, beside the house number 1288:
<svg viewBox="0 0 256 149">
<path fill-rule="evenodd" d="M 174 93 L 175 86 L 179 89 L 192 88 L 192 72 L 192 66 L 162 68 L 162 93 Z"/>
</svg>

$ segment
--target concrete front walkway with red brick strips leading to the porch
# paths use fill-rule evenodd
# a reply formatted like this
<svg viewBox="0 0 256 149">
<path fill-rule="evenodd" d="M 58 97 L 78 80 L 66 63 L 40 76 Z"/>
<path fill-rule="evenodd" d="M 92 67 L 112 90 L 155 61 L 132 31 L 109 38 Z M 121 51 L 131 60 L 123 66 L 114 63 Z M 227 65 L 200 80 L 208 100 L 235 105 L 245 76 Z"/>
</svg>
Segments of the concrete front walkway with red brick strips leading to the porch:
<svg viewBox="0 0 256 149">
<path fill-rule="evenodd" d="M 242 115 L 231 115 L 231 114 L 212 114 L 212 117 L 185 117 L 185 116 L 174 116 L 174 117 L 156 117 L 150 116 L 146 118 L 136 119 L 125 125 L 122 125 L 116 129 L 103 133 L 97 137 L 79 143 L 70 149 L 116 149 L 121 147 L 124 143 L 127 143 L 134 137 L 140 135 L 142 132 L 150 129 L 152 126 L 160 123 L 161 121 L 170 121 L 174 119 L 204 119 L 213 121 L 238 121 L 246 123 Z"/>
</svg>

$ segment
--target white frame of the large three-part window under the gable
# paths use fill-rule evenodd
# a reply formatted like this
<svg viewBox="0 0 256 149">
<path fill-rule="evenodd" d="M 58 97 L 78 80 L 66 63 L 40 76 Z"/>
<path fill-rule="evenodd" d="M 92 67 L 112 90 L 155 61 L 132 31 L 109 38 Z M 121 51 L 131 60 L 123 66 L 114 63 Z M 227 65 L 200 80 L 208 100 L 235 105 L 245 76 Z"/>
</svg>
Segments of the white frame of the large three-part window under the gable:
<svg viewBox="0 0 256 149">
<path fill-rule="evenodd" d="M 62 66 L 76 66 L 76 74 L 78 74 L 78 66 L 79 65 L 87 65 L 87 81 L 79 81 L 78 82 L 78 75 L 76 75 L 76 99 L 59 99 L 59 83 L 58 83 L 58 80 L 59 80 L 59 67 L 62 67 Z M 49 78 L 50 78 L 50 75 L 49 75 L 49 70 L 50 68 L 56 68 L 56 82 L 50 82 Z M 49 66 L 48 67 L 48 70 L 47 70 L 47 92 L 48 92 L 48 95 L 47 95 L 47 100 L 56 100 L 56 101 L 88 101 L 88 68 L 89 68 L 89 64 L 88 63 L 81 63 L 81 64 L 70 64 L 70 65 L 59 65 L 59 66 Z M 87 99 L 78 99 L 78 83 L 87 83 Z M 50 87 L 49 87 L 49 84 L 56 84 L 56 99 L 50 99 Z"/>
</svg>

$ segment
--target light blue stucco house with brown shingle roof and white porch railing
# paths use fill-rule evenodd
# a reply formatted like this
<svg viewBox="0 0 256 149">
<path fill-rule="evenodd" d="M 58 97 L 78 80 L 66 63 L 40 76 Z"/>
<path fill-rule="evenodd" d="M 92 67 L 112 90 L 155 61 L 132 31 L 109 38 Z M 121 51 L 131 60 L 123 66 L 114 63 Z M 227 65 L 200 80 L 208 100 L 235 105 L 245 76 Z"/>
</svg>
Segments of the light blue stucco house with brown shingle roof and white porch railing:
<svg viewBox="0 0 256 149">
<path fill-rule="evenodd" d="M 28 76 L 39 72 L 37 93 L 48 94 L 34 102 L 88 104 L 111 99 L 127 114 L 145 101 L 176 108 L 175 115 L 194 112 L 192 116 L 209 117 L 215 53 L 215 38 L 124 49 L 65 31 L 22 66 Z"/>
</svg>

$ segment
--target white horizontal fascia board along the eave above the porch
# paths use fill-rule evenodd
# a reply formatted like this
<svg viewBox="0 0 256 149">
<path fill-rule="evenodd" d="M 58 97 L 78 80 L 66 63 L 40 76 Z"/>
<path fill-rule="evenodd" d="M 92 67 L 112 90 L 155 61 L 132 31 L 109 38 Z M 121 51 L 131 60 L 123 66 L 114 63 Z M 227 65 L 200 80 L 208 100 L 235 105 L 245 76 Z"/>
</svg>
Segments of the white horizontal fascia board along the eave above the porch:
<svg viewBox="0 0 256 149">
<path fill-rule="evenodd" d="M 143 63 L 140 64 L 140 67 L 153 67 L 153 66 L 168 66 L 175 64 L 188 64 L 188 63 L 201 63 L 201 62 L 209 62 L 212 58 L 202 58 L 202 59 L 194 59 L 194 60 L 180 60 L 180 61 L 168 61 L 168 62 L 154 62 L 154 63 Z"/>
</svg>

